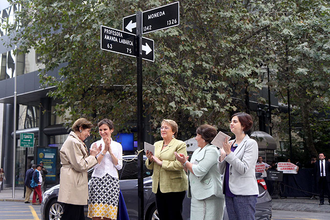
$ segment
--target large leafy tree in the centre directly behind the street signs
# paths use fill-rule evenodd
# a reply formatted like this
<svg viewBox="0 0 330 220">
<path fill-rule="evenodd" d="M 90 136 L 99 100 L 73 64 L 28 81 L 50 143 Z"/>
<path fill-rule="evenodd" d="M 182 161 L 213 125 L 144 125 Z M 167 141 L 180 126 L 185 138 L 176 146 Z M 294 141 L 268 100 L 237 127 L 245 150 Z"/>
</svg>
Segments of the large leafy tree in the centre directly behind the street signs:
<svg viewBox="0 0 330 220">
<path fill-rule="evenodd" d="M 42 55 L 44 85 L 67 119 L 115 120 L 119 129 L 135 120 L 135 60 L 99 48 L 100 25 L 120 29 L 122 18 L 168 1 L 19 0 L 20 31 L 12 43 Z M 216 6 L 216 7 L 215 7 Z M 264 51 L 259 14 L 233 0 L 180 1 L 180 25 L 147 37 L 155 41 L 155 62 L 144 62 L 144 104 L 153 128 L 162 118 L 178 121 L 181 134 L 202 123 L 224 127 L 230 111 L 245 109 L 233 96 L 262 87 Z M 12 26 L 15 30 L 17 27 Z M 61 63 L 62 80 L 45 74 Z M 241 95 L 243 97 L 243 95 Z M 239 97 L 240 98 L 240 97 Z"/>
</svg>

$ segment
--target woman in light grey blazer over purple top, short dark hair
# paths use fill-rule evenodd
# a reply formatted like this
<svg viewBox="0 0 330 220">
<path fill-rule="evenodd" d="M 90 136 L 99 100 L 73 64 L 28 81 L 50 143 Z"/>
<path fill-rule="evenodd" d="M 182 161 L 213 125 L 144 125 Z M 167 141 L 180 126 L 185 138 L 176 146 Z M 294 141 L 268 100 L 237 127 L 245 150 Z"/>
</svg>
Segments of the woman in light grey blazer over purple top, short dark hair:
<svg viewBox="0 0 330 220">
<path fill-rule="evenodd" d="M 223 174 L 222 189 L 230 220 L 254 220 L 256 212 L 259 194 L 255 176 L 258 144 L 245 134 L 252 125 L 249 114 L 234 114 L 230 131 L 235 134 L 235 139 L 230 142 L 226 139 L 223 148 L 220 148 L 218 168 Z"/>
</svg>

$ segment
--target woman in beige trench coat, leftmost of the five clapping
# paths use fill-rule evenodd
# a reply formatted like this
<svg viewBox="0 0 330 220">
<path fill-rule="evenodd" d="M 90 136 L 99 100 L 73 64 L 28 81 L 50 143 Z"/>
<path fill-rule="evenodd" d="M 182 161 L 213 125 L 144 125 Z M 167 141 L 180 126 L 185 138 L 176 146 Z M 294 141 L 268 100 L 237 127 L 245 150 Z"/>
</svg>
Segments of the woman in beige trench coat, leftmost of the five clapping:
<svg viewBox="0 0 330 220">
<path fill-rule="evenodd" d="M 84 205 L 88 199 L 87 171 L 102 160 L 96 158 L 101 146 L 93 145 L 88 149 L 83 142 L 90 132 L 92 124 L 86 118 L 79 118 L 72 126 L 61 150 L 61 176 L 58 201 L 63 203 L 61 220 L 85 220 Z M 105 149 L 109 149 L 109 139 L 105 141 Z"/>
</svg>

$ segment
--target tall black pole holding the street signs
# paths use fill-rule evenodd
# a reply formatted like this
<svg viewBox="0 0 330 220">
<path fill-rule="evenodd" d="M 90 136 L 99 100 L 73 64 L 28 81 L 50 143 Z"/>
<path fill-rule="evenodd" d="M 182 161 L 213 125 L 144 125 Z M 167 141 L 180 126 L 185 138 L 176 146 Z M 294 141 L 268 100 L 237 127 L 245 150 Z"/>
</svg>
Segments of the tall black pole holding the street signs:
<svg viewBox="0 0 330 220">
<path fill-rule="evenodd" d="M 136 86 L 137 86 L 137 150 L 143 149 L 142 100 L 142 12 L 136 12 Z M 137 157 L 138 220 L 144 220 L 143 154 Z"/>
</svg>

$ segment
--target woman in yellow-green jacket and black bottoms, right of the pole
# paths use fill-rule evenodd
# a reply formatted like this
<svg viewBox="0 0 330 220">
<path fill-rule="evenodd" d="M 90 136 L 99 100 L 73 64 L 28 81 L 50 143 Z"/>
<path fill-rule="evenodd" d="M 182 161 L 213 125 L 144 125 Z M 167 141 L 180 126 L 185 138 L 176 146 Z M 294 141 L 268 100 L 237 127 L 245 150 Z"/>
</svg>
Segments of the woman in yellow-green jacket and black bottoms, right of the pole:
<svg viewBox="0 0 330 220">
<path fill-rule="evenodd" d="M 164 119 L 160 134 L 164 140 L 154 143 L 154 155 L 147 151 L 146 166 L 153 172 L 153 192 L 159 220 L 182 220 L 182 202 L 188 188 L 183 166 L 175 152 L 187 155 L 186 144 L 176 139 L 177 124 Z"/>
</svg>

